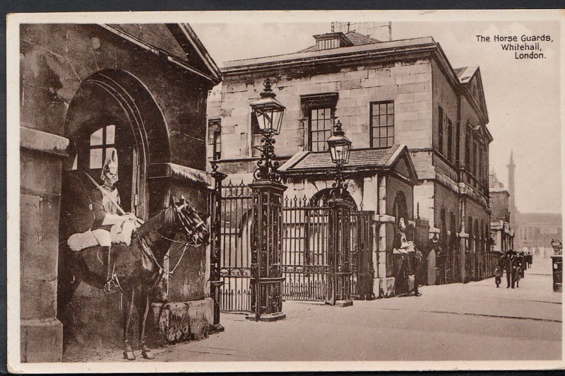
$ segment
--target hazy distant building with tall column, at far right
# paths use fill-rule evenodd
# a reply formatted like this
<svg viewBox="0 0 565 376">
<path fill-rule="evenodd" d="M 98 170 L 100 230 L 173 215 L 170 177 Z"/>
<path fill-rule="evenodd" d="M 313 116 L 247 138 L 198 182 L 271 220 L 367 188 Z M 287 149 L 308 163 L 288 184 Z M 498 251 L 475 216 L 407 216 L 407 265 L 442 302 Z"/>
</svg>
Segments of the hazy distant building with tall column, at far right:
<svg viewBox="0 0 565 376">
<path fill-rule="evenodd" d="M 515 180 L 513 153 L 510 154 L 509 200 L 510 223 L 515 229 L 514 247 L 518 250 L 530 251 L 534 254 L 549 256 L 553 254 L 552 240 L 563 238 L 561 213 L 521 213 L 513 199 L 515 196 Z"/>
</svg>

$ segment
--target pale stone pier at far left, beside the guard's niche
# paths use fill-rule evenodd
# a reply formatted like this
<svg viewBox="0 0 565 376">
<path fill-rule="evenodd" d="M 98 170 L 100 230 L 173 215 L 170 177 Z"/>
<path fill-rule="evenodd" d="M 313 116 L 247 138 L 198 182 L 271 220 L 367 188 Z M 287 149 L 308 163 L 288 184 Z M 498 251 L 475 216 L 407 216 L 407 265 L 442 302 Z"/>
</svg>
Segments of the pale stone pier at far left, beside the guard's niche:
<svg viewBox="0 0 565 376">
<path fill-rule="evenodd" d="M 57 319 L 62 159 L 69 140 L 20 128 L 20 360 L 60 362 Z"/>
</svg>

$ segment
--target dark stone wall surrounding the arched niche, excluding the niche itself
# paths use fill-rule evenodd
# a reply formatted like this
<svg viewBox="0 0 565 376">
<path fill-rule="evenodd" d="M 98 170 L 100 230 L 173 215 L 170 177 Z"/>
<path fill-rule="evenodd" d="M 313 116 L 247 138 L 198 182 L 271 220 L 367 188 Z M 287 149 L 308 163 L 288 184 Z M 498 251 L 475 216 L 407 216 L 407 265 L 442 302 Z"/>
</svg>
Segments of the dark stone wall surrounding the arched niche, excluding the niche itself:
<svg viewBox="0 0 565 376">
<path fill-rule="evenodd" d="M 23 361 L 58 361 L 62 354 L 62 328 L 56 319 L 59 194 L 63 165 L 72 165 L 72 160 L 66 160 L 73 131 L 67 127 L 71 101 L 97 72 L 121 71 L 136 78 L 165 124 L 161 130 L 153 129 L 153 122 L 145 124 L 148 138 L 164 132 L 167 144 L 161 147 L 171 151 L 164 160 L 153 160 L 159 153 L 149 153 L 146 162 L 165 161 L 204 170 L 206 92 L 211 85 L 100 25 L 21 25 L 20 37 L 20 129 L 27 135 L 22 136 L 20 161 L 21 227 L 25 229 L 20 235 L 21 353 Z M 59 144 L 64 147 L 57 148 Z M 153 188 L 149 196 L 159 193 L 156 186 Z M 190 189 L 184 185 L 184 192 Z M 196 206 L 206 213 L 206 189 L 198 192 L 204 196 L 195 198 Z M 205 278 L 201 274 L 205 254 L 199 249 L 190 260 L 191 266 L 181 271 L 180 284 L 186 288 L 172 288 L 175 298 L 204 298 Z M 100 300 L 90 305 L 93 309 L 104 306 Z M 105 319 L 118 320 L 118 316 L 107 314 Z M 86 320 L 78 324 L 85 325 Z"/>
</svg>

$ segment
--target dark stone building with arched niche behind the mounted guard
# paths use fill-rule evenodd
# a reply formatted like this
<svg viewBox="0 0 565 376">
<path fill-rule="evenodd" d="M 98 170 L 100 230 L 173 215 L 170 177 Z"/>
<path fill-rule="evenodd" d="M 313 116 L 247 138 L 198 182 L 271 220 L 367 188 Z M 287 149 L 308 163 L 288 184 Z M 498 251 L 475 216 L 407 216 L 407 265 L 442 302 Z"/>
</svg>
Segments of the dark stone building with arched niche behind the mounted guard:
<svg viewBox="0 0 565 376">
<path fill-rule="evenodd" d="M 188 24 L 26 24 L 20 40 L 21 359 L 60 361 L 63 326 L 98 345 L 121 337 L 119 294 L 83 284 L 57 307 L 66 172 L 98 178 L 116 149 L 126 211 L 150 218 L 184 194 L 206 215 L 206 95 L 221 74 Z M 191 328 L 175 339 L 206 336 L 208 254 L 192 249 L 155 298 L 187 302 L 186 312 L 169 312 Z"/>
</svg>

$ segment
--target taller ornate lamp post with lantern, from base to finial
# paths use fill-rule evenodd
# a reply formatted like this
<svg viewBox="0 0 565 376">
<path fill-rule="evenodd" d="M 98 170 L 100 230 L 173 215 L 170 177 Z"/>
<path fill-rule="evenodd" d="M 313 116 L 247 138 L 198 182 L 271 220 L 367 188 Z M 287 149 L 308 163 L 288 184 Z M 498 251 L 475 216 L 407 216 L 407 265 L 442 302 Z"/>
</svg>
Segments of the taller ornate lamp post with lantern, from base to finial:
<svg viewBox="0 0 565 376">
<path fill-rule="evenodd" d="M 275 99 L 267 78 L 261 99 L 251 103 L 251 121 L 258 128 L 261 159 L 257 161 L 252 191 L 253 223 L 251 224 L 251 314 L 253 321 L 284 319 L 283 308 L 283 193 L 287 189 L 280 183 L 278 162 L 275 158 L 275 140 L 283 123 L 285 106 Z"/>
</svg>

